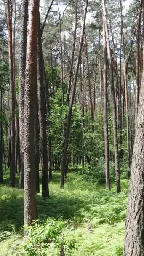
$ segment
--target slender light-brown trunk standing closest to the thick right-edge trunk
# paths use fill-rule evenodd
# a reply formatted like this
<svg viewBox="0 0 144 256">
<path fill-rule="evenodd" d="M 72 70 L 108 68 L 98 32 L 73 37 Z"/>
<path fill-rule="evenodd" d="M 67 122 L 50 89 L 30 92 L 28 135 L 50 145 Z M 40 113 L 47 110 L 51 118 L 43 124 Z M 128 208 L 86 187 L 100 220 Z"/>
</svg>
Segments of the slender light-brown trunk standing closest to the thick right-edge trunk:
<svg viewBox="0 0 144 256">
<path fill-rule="evenodd" d="M 120 0 L 120 12 L 121 12 L 121 29 L 122 29 L 122 43 L 123 43 L 123 73 L 124 73 L 124 85 L 125 85 L 125 109 L 126 109 L 126 131 L 127 131 L 127 162 L 128 162 L 128 178 L 131 173 L 131 152 L 130 152 L 130 132 L 129 132 L 129 112 L 128 112 L 128 85 L 127 85 L 127 70 L 125 60 L 125 38 L 123 32 L 123 5 Z"/>
</svg>

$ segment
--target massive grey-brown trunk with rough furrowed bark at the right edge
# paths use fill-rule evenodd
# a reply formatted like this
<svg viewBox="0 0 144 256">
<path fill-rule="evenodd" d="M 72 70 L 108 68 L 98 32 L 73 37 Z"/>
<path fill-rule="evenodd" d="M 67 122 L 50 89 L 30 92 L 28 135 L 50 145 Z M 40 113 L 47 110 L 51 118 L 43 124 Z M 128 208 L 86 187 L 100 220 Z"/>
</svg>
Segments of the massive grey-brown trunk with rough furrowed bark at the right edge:
<svg viewBox="0 0 144 256">
<path fill-rule="evenodd" d="M 144 79 L 141 83 L 125 229 L 124 256 L 144 256 Z"/>
</svg>

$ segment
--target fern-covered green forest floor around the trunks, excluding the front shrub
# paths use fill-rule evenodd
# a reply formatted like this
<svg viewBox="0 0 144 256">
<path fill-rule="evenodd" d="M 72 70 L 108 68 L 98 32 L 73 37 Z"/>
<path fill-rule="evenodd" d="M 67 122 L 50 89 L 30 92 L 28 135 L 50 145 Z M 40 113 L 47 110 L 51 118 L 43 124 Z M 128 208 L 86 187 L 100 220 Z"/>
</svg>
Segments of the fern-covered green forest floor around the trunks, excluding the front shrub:
<svg viewBox="0 0 144 256">
<path fill-rule="evenodd" d="M 59 188 L 59 180 L 60 173 L 53 172 L 50 199 L 37 195 L 39 219 L 61 217 L 70 223 L 65 232 L 77 238 L 73 256 L 122 256 L 128 181 L 121 181 L 122 192 L 117 195 L 115 184 L 107 191 L 104 185 L 86 181 L 79 171 L 68 173 L 65 189 Z M 0 184 L 0 256 L 26 255 L 22 246 L 23 204 L 23 189 L 9 187 L 5 174 L 4 184 Z M 57 255 L 53 246 L 48 255 Z"/>
</svg>

